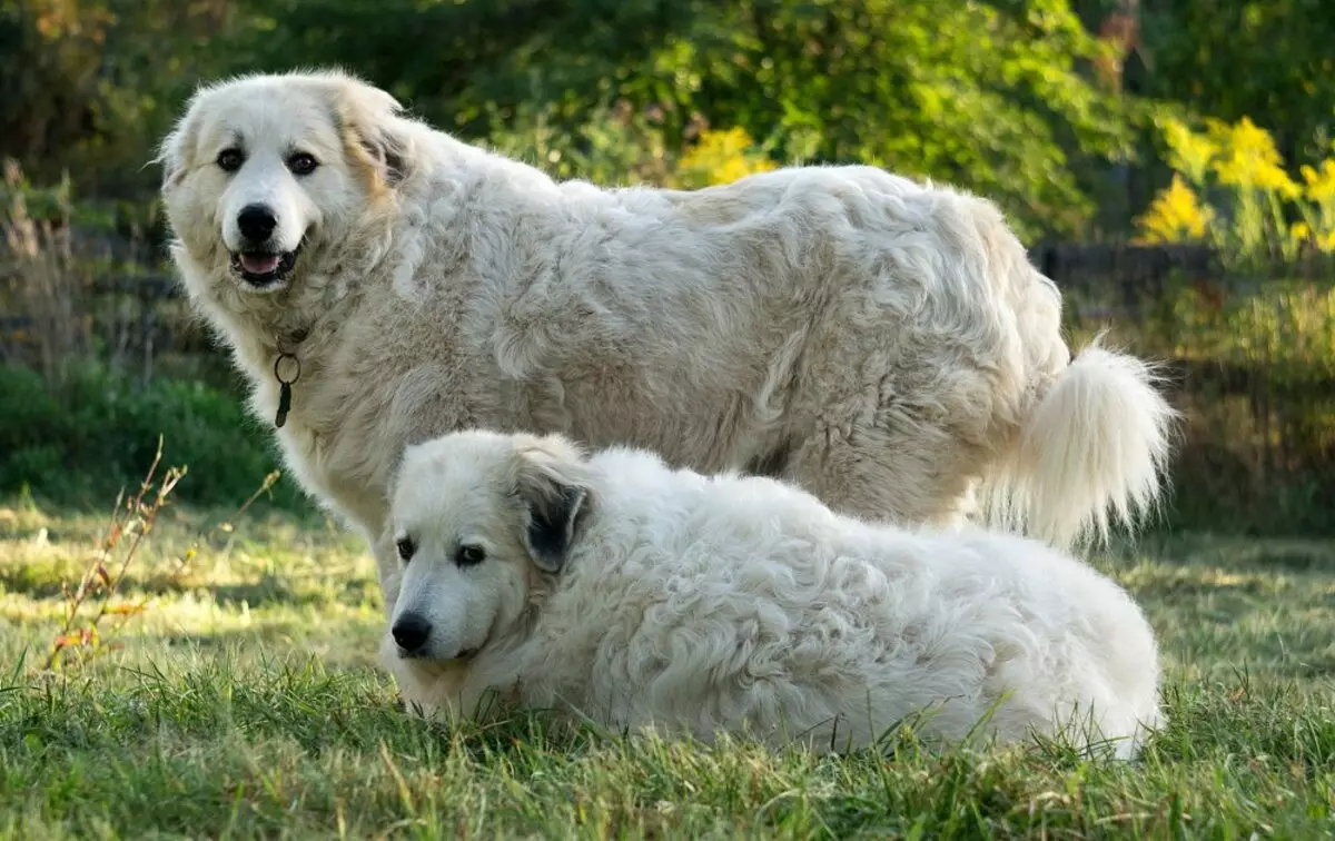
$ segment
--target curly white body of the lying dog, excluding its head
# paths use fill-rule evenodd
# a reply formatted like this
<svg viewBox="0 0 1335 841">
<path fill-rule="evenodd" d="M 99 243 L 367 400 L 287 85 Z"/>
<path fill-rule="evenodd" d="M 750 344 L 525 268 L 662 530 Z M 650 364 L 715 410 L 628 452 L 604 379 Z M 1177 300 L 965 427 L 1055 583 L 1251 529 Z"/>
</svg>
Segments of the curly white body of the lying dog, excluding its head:
<svg viewBox="0 0 1335 841">
<path fill-rule="evenodd" d="M 1037 542 L 869 525 L 790 485 L 670 471 L 646 453 L 590 467 L 595 514 L 533 649 L 590 714 L 705 738 L 748 721 L 817 746 L 865 745 L 937 705 L 925 732 L 947 738 L 989 714 L 985 730 L 1020 740 L 1079 728 L 1064 718 L 1092 708 L 1101 730 L 1076 744 L 1160 720 L 1139 607 Z"/>
</svg>

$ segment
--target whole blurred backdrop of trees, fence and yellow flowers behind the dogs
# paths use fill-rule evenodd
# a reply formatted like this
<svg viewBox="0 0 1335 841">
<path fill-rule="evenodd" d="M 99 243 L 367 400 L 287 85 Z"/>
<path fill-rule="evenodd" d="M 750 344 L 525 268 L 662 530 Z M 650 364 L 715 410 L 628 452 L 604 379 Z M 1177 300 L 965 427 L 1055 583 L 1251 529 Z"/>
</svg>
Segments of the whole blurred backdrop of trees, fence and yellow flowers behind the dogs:
<svg viewBox="0 0 1335 841">
<path fill-rule="evenodd" d="M 1171 363 L 1160 529 L 1335 533 L 1335 13 L 1320 0 L 3 0 L 0 497 L 276 461 L 164 262 L 200 81 L 338 64 L 559 178 L 870 163 L 997 202 L 1076 343 Z M 288 479 L 262 506 L 307 513 Z"/>
</svg>

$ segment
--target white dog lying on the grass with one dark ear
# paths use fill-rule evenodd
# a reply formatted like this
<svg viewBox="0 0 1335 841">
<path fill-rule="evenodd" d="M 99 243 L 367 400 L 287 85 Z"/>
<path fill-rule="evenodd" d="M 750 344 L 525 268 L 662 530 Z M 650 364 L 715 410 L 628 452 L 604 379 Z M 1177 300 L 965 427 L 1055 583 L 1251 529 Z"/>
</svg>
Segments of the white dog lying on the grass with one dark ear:
<svg viewBox="0 0 1335 841">
<path fill-rule="evenodd" d="M 522 706 L 702 740 L 865 746 L 1067 733 L 1131 757 L 1159 726 L 1136 603 L 1031 539 L 830 513 L 768 478 L 704 477 L 549 435 L 454 433 L 395 482 L 399 599 L 382 655 L 431 716 Z M 932 708 L 932 709 L 929 709 Z"/>
</svg>

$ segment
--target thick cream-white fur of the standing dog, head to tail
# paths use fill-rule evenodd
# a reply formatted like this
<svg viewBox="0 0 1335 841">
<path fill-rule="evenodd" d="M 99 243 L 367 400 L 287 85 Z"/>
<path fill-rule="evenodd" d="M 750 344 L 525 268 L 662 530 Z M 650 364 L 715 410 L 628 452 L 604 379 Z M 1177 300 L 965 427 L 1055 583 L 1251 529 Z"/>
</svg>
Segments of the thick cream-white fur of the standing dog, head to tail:
<svg viewBox="0 0 1335 841">
<path fill-rule="evenodd" d="M 292 151 L 320 167 L 292 175 Z M 471 426 L 778 475 L 902 523 L 959 522 L 981 482 L 1055 545 L 1159 494 L 1171 410 L 1133 359 L 1068 364 L 1056 287 L 983 199 L 872 167 L 555 183 L 335 72 L 203 88 L 160 158 L 190 298 L 264 422 L 295 352 L 286 461 L 368 539 L 405 445 Z M 255 196 L 304 243 L 263 291 L 230 267 Z"/>
</svg>

